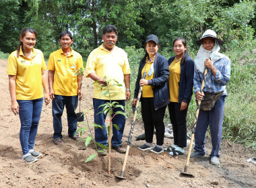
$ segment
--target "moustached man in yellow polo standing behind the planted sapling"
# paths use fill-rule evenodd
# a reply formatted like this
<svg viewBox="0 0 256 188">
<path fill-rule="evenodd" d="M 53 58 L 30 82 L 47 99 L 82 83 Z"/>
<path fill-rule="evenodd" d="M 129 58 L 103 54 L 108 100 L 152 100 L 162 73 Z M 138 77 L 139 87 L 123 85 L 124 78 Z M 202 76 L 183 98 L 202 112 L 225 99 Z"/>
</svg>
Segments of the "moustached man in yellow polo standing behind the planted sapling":
<svg viewBox="0 0 256 188">
<path fill-rule="evenodd" d="M 98 113 L 102 111 L 103 107 L 99 107 L 109 101 L 109 96 L 101 95 L 103 91 L 100 90 L 100 85 L 106 85 L 106 80 L 114 79 L 122 84 L 121 87 L 110 82 L 110 97 L 111 101 L 117 101 L 119 105 L 125 106 L 125 101 L 129 101 L 130 90 L 130 67 L 127 54 L 121 48 L 115 46 L 117 42 L 117 28 L 108 25 L 103 29 L 102 40 L 104 44 L 94 49 L 88 57 L 86 64 L 86 77 L 90 77 L 98 83 L 94 83 L 94 122 L 100 126 L 106 126 L 104 120 L 106 115 Z M 106 80 L 104 79 L 106 77 Z M 114 109 L 115 111 L 124 111 L 120 107 Z M 113 127 L 112 144 L 117 152 L 124 153 L 126 149 L 122 146 L 123 130 L 125 128 L 125 116 L 115 115 L 113 124 L 119 126 L 119 130 Z M 95 129 L 96 142 L 107 146 L 108 135 L 105 129 Z M 100 148 L 102 150 L 102 148 Z M 106 152 L 100 152 L 101 155 L 106 155 Z"/>
</svg>

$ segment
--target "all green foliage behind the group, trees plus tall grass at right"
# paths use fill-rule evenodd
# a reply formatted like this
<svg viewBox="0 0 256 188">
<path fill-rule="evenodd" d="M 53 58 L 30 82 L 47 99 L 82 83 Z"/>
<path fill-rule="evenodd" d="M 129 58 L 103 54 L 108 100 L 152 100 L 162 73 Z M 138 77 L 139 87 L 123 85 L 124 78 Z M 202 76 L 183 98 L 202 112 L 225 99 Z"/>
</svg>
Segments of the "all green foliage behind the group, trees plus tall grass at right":
<svg viewBox="0 0 256 188">
<path fill-rule="evenodd" d="M 17 48 L 21 30 L 30 27 L 38 33 L 36 48 L 46 58 L 60 48 L 59 34 L 71 31 L 73 49 L 86 62 L 88 54 L 102 43 L 102 28 L 117 26 L 117 46 L 129 56 L 132 90 L 148 34 L 158 36 L 160 54 L 166 58 L 174 55 L 174 38 L 186 38 L 189 54 L 195 58 L 195 41 L 205 30 L 215 30 L 224 40 L 222 52 L 232 61 L 224 138 L 256 150 L 255 0 L 2 0 L 0 9 L 0 58 Z M 132 115 L 129 106 L 127 112 Z M 189 105 L 188 126 L 194 113 L 195 97 Z M 168 111 L 165 121 L 169 121 Z"/>
</svg>

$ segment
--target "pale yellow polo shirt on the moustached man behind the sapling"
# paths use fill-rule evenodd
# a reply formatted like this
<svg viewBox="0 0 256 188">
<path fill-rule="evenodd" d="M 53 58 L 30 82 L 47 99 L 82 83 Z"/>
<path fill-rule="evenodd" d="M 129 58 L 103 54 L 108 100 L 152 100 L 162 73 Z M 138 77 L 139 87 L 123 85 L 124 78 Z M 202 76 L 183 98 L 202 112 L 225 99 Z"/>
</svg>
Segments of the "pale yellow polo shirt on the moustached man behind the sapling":
<svg viewBox="0 0 256 188">
<path fill-rule="evenodd" d="M 102 45 L 94 49 L 88 56 L 86 64 L 86 77 L 90 73 L 96 73 L 98 77 L 106 80 L 114 79 L 122 86 L 115 85 L 115 81 L 110 81 L 109 90 L 111 99 L 123 100 L 125 99 L 125 83 L 124 75 L 131 74 L 128 58 L 126 52 L 115 46 L 113 52 L 109 52 Z M 94 83 L 94 98 L 95 99 L 109 99 L 109 95 L 102 95 L 106 89 L 100 90 L 100 85 Z"/>
</svg>

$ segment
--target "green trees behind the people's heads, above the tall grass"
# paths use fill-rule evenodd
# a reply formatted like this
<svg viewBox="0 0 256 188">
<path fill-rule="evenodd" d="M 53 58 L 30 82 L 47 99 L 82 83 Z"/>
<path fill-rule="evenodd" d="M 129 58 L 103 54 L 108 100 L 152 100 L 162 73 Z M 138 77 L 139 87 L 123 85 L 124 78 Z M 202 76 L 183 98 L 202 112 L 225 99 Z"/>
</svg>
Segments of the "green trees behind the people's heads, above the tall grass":
<svg viewBox="0 0 256 188">
<path fill-rule="evenodd" d="M 191 49 L 208 28 L 220 34 L 226 50 L 255 38 L 255 0 L 3 0 L 0 8 L 0 51 L 18 46 L 23 28 L 38 32 L 36 48 L 46 57 L 58 49 L 59 34 L 73 33 L 73 48 L 84 60 L 102 42 L 102 28 L 119 29 L 118 46 L 143 48 L 145 36 L 156 34 L 161 49 L 186 38 Z"/>
</svg>

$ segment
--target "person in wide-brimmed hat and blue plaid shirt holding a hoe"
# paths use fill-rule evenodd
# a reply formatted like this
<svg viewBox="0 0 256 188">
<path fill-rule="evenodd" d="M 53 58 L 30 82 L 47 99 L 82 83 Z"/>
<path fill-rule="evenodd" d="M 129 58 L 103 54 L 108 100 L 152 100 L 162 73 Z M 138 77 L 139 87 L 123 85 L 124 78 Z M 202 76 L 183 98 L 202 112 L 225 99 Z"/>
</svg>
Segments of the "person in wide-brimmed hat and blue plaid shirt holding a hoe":
<svg viewBox="0 0 256 188">
<path fill-rule="evenodd" d="M 230 79 L 230 59 L 219 52 L 223 41 L 217 38 L 216 32 L 206 30 L 197 45 L 200 46 L 195 58 L 194 87 L 197 101 L 201 101 L 197 126 L 195 128 L 195 152 L 191 157 L 205 156 L 205 134 L 208 125 L 212 136 L 210 162 L 219 165 L 220 142 L 222 140 L 222 123 L 224 105 L 227 96 L 226 85 Z M 207 74 L 203 75 L 207 68 Z M 203 92 L 201 83 L 205 79 Z"/>
</svg>

